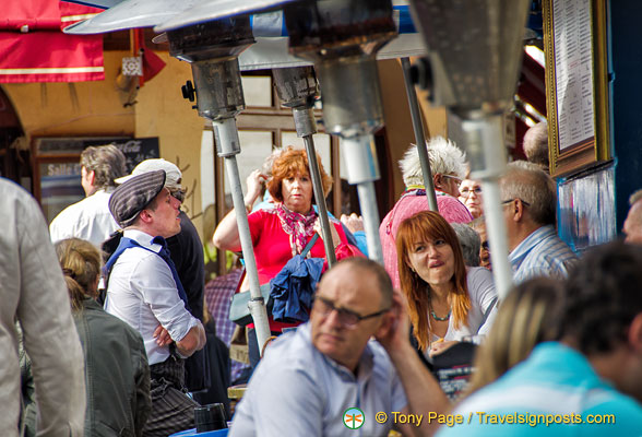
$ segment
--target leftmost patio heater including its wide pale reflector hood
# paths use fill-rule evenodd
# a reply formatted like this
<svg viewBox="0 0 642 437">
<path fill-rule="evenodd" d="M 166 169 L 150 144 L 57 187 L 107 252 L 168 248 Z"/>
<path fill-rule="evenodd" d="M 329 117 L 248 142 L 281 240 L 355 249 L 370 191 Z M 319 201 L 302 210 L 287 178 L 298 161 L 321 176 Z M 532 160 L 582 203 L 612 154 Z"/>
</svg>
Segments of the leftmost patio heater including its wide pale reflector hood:
<svg viewBox="0 0 642 437">
<path fill-rule="evenodd" d="M 249 10 L 266 11 L 287 1 L 292 0 L 218 0 L 215 4 L 218 9 L 234 11 L 230 14 L 234 15 Z M 123 0 L 93 19 L 67 27 L 64 32 L 92 34 L 144 26 L 156 26 L 158 29 L 182 11 L 192 7 L 198 9 L 202 3 L 199 0 Z M 235 118 L 245 109 L 238 55 L 253 44 L 254 38 L 249 16 L 213 20 L 195 20 L 190 25 L 166 26 L 162 31 L 169 31 L 170 55 L 191 63 L 195 87 L 188 82 L 182 87 L 183 96 L 192 102 L 198 98 L 194 108 L 200 116 L 212 121 L 217 154 L 225 161 L 250 283 L 249 307 L 261 349 L 271 333 L 236 162 L 240 144 Z"/>
</svg>

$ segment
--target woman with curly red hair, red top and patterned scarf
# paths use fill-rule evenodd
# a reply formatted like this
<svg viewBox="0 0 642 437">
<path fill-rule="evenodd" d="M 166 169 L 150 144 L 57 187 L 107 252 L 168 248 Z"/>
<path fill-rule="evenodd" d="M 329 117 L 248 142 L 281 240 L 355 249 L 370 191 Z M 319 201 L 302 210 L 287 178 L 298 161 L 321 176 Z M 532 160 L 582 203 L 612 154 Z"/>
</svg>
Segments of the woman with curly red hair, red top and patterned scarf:
<svg viewBox="0 0 642 437">
<path fill-rule="evenodd" d="M 325 174 L 319 157 L 318 161 L 323 192 L 328 196 L 332 187 L 332 178 Z M 309 257 L 325 258 L 319 215 L 312 208 L 312 181 L 308 168 L 308 155 L 305 150 L 293 146 L 285 149 L 274 160 L 272 177 L 266 180 L 268 190 L 274 200 L 274 208 L 259 210 L 248 216 L 261 284 L 269 283 L 281 272 L 287 261 L 304 250 L 316 233 L 319 233 L 321 238 L 312 246 Z M 245 197 L 248 211 L 251 211 L 260 196 L 260 181 L 266 179 L 259 172 L 254 172 L 253 175 L 254 177 L 251 176 L 248 180 L 253 179 L 254 184 L 248 187 L 248 193 Z M 337 260 L 361 256 L 359 249 L 347 243 L 338 221 L 331 220 L 330 229 Z M 240 238 L 234 210 L 216 227 L 213 241 L 221 249 L 240 251 Z M 241 285 L 241 291 L 248 288 L 248 284 Z M 281 334 L 283 329 L 297 324 L 278 322 L 270 317 L 270 329 L 273 334 Z M 253 324 L 248 324 L 248 328 L 253 328 Z M 252 351 L 250 354 L 252 355 Z M 258 361 L 258 356 L 251 356 L 250 361 Z"/>
</svg>

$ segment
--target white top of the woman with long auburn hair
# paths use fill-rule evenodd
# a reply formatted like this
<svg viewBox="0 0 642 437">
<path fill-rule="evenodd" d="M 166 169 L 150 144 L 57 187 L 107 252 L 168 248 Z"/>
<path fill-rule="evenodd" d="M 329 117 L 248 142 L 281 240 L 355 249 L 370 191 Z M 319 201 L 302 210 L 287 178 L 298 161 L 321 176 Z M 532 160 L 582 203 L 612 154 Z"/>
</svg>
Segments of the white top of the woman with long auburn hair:
<svg viewBox="0 0 642 437">
<path fill-rule="evenodd" d="M 497 310 L 497 291 L 492 273 L 483 267 L 466 268 L 466 282 L 468 284 L 468 294 L 471 296 L 471 310 L 468 311 L 468 324 L 462 324 L 460 329 L 452 326 L 453 318 L 448 321 L 448 331 L 443 340 L 462 341 L 464 336 L 471 336 L 475 343 L 480 342 L 492 320 Z M 433 335 L 432 340 L 438 340 Z"/>
</svg>

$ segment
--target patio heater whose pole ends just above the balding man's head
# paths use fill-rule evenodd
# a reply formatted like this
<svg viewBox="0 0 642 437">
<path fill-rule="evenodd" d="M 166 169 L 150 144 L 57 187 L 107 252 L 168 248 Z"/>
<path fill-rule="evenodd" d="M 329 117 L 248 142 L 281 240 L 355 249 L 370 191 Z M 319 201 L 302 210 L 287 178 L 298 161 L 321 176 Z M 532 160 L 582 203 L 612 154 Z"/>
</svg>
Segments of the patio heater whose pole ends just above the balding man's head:
<svg viewBox="0 0 642 437">
<path fill-rule="evenodd" d="M 293 55 L 312 61 L 323 122 L 343 139 L 348 182 L 357 186 L 371 259 L 383 261 L 372 133 L 383 126 L 377 51 L 396 36 L 390 0 L 316 0 L 284 5 Z"/>
</svg>

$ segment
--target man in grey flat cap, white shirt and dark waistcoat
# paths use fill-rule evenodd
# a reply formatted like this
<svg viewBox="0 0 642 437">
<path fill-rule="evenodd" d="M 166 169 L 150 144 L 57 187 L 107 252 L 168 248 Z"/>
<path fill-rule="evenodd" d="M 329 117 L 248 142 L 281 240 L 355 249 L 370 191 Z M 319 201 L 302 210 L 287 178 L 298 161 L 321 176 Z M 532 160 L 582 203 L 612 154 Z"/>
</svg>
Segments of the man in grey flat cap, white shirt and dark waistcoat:
<svg viewBox="0 0 642 437">
<path fill-rule="evenodd" d="M 123 228 L 107 261 L 105 309 L 143 336 L 152 376 L 152 414 L 143 434 L 168 436 L 194 426 L 185 390 L 185 359 L 205 345 L 165 238 L 180 232 L 180 201 L 165 188 L 164 170 L 135 176 L 111 194 L 109 211 Z"/>
</svg>

